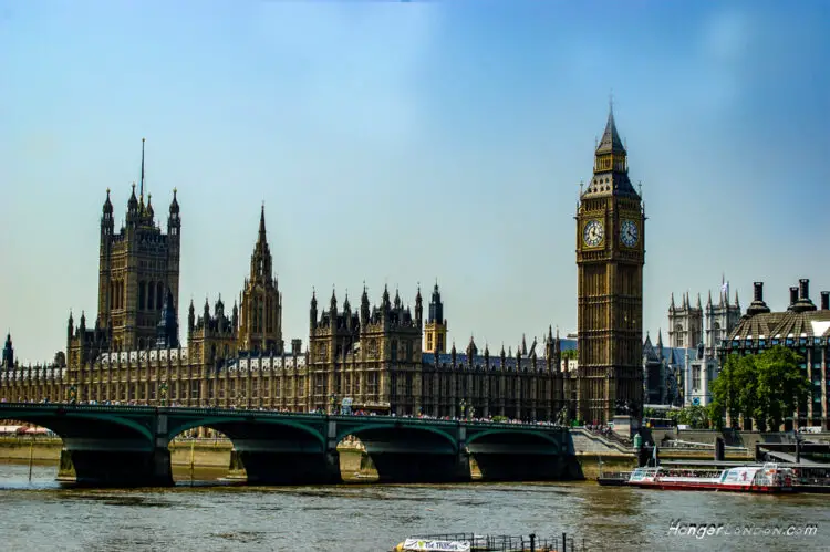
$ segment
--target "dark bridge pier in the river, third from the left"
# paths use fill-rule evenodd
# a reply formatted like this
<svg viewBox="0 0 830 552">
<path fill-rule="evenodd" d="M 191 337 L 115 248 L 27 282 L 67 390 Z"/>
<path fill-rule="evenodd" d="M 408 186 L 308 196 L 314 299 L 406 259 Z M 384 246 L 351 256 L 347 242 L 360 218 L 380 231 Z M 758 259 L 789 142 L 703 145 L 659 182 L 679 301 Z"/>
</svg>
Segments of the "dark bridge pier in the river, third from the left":
<svg viewBox="0 0 830 552">
<path fill-rule="evenodd" d="M 382 483 L 453 483 L 471 480 L 467 454 L 369 452 Z"/>
</svg>

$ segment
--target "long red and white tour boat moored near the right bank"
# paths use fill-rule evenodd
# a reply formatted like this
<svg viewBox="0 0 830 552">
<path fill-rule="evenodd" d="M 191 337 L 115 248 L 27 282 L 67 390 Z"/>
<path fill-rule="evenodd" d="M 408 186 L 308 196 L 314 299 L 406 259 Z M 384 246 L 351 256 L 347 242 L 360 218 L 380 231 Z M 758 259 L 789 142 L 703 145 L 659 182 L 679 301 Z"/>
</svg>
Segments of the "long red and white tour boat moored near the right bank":
<svg viewBox="0 0 830 552">
<path fill-rule="evenodd" d="M 736 492 L 793 492 L 791 468 L 777 464 L 740 466 L 720 472 L 677 468 L 637 468 L 631 473 L 629 483 L 651 489 L 677 489 L 699 491 Z"/>
</svg>

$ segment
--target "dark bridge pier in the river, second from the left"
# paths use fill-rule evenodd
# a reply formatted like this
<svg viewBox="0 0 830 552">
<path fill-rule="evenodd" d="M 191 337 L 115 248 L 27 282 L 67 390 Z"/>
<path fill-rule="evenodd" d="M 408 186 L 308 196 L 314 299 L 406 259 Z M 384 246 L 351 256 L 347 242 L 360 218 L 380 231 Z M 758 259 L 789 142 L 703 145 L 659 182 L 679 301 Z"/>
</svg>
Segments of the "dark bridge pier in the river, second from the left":
<svg viewBox="0 0 830 552">
<path fill-rule="evenodd" d="M 288 452 L 232 450 L 229 478 L 251 485 L 335 485 L 340 476 L 340 455 L 329 452 Z"/>
</svg>

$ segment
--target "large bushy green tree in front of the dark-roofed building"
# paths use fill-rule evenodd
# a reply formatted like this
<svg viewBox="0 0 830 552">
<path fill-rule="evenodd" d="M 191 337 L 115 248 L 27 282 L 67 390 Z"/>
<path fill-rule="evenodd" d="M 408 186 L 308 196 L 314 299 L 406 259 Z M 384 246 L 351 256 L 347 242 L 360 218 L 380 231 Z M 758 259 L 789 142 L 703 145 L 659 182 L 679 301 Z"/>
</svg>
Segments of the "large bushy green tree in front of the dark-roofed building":
<svg viewBox="0 0 830 552">
<path fill-rule="evenodd" d="M 806 404 L 810 382 L 799 367 L 795 351 L 776 345 L 756 355 L 730 355 L 712 383 L 709 416 L 722 425 L 728 413 L 733 424 L 738 416 L 751 418 L 758 429 L 777 429 Z"/>
</svg>

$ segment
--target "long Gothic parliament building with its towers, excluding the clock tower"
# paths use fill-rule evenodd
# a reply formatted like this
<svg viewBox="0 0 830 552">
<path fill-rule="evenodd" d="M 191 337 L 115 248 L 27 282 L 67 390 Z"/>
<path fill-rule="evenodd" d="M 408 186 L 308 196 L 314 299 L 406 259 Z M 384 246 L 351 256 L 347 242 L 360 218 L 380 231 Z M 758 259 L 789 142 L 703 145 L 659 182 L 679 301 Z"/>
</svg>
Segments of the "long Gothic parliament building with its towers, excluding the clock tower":
<svg viewBox="0 0 830 552">
<path fill-rule="evenodd" d="M 155 223 L 149 201 L 135 186 L 125 226 L 114 233 L 107 190 L 101 220 L 98 314 L 87 327 L 81 313 L 66 329 L 66 353 L 49 366 L 13 364 L 7 340 L 0 398 L 6 400 L 117 402 L 139 405 L 329 410 L 352 409 L 401 415 L 508 416 L 554 419 L 569 397 L 570 377 L 561 368 L 560 340 L 551 330 L 537 351 L 523 343 L 516 355 L 478 354 L 453 345 L 445 353 L 447 321 L 437 284 L 426 323 L 430 351 L 423 352 L 422 296 L 415 313 L 384 290 L 380 306 L 367 291 L 360 310 L 347 298 L 318 315 L 312 295 L 309 348 L 282 340 L 282 296 L 272 277 L 264 207 L 250 273 L 230 316 L 219 298 L 211 312 L 206 299 L 199 316 L 190 302 L 187 340 L 178 339 L 179 239 L 181 219 L 174 190 L 167 233 Z"/>
</svg>

